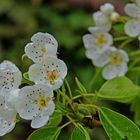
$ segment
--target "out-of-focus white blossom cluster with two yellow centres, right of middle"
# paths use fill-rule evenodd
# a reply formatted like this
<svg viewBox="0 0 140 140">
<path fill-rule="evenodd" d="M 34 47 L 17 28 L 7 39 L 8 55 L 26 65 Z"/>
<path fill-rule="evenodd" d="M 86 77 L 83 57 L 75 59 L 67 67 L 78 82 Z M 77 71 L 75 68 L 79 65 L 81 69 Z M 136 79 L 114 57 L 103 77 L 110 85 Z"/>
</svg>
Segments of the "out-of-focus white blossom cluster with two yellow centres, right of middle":
<svg viewBox="0 0 140 140">
<path fill-rule="evenodd" d="M 83 36 L 87 58 L 92 60 L 93 65 L 103 67 L 102 75 L 107 80 L 123 76 L 128 70 L 127 53 L 113 46 L 113 37 L 108 33 L 112 22 L 118 18 L 119 14 L 114 11 L 113 5 L 102 5 L 100 11 L 93 14 L 96 26 L 89 27 L 90 34 Z"/>
</svg>

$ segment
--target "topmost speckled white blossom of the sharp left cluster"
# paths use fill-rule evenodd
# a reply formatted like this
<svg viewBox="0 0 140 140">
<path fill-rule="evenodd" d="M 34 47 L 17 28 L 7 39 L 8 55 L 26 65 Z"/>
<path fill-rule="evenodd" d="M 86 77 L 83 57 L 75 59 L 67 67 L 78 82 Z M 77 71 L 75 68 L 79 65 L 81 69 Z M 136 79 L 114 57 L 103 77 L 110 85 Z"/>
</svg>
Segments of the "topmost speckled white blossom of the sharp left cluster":
<svg viewBox="0 0 140 140">
<path fill-rule="evenodd" d="M 31 41 L 26 45 L 25 53 L 35 63 L 42 63 L 47 56 L 56 56 L 58 43 L 51 34 L 38 32 Z"/>
</svg>

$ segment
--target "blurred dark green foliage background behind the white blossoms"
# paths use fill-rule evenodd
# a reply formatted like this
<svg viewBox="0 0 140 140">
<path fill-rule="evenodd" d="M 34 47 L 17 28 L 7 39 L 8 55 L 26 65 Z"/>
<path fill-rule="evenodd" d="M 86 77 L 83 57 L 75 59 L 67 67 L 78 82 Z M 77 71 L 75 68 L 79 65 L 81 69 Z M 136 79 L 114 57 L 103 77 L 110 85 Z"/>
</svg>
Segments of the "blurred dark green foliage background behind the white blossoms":
<svg viewBox="0 0 140 140">
<path fill-rule="evenodd" d="M 82 36 L 88 32 L 89 26 L 93 26 L 92 13 L 105 2 L 113 3 L 121 15 L 125 14 L 126 0 L 0 0 L 0 62 L 10 60 L 22 72 L 28 71 L 32 61 L 21 59 L 25 45 L 34 33 L 48 32 L 59 43 L 58 57 L 68 66 L 70 85 L 74 87 L 73 81 L 77 76 L 89 88 L 88 81 L 95 68 L 85 57 Z M 121 105 L 117 106 L 120 109 Z M 122 107 L 121 110 L 123 112 Z M 32 131 L 30 124 L 22 121 L 0 140 L 26 140 Z M 108 139 L 102 128 L 93 131 L 94 140 Z M 59 139 L 69 139 L 67 132 L 69 129 Z"/>
</svg>

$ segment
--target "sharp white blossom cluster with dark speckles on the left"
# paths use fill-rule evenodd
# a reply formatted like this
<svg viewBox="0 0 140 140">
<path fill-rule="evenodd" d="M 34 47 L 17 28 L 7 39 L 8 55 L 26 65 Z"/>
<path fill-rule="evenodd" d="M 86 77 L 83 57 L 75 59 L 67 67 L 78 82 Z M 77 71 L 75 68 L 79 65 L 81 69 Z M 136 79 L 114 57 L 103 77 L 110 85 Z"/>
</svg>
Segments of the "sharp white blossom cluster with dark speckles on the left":
<svg viewBox="0 0 140 140">
<path fill-rule="evenodd" d="M 35 85 L 21 85 L 22 74 L 11 62 L 0 64 L 0 136 L 10 132 L 17 114 L 31 120 L 32 128 L 44 126 L 55 110 L 53 91 L 60 88 L 67 74 L 66 64 L 57 58 L 58 43 L 48 33 L 36 33 L 25 47 L 26 55 L 35 62 L 29 68 L 29 80 Z"/>
</svg>

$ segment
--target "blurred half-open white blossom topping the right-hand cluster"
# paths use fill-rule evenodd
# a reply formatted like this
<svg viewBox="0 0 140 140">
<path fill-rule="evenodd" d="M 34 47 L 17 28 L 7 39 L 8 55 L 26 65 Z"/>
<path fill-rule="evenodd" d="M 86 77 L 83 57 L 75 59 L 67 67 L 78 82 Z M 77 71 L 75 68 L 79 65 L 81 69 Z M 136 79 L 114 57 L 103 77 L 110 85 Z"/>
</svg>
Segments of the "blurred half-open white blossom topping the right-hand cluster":
<svg viewBox="0 0 140 140">
<path fill-rule="evenodd" d="M 114 6 L 110 3 L 106 3 L 100 7 L 100 11 L 93 14 L 93 20 L 97 27 L 102 28 L 104 31 L 109 31 L 112 26 L 112 22 L 116 22 L 119 18 L 119 14 L 115 11 Z"/>
</svg>

